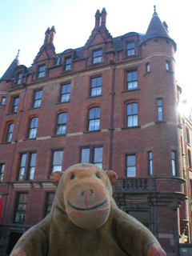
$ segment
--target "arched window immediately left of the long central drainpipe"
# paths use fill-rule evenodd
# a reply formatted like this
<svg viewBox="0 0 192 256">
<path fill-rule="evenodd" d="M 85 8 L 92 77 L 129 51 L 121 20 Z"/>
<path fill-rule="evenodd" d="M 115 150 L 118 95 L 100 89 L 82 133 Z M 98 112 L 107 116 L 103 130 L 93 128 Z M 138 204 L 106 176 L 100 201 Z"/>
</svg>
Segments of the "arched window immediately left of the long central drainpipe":
<svg viewBox="0 0 192 256">
<path fill-rule="evenodd" d="M 88 130 L 99 130 L 100 107 L 93 107 L 88 114 Z"/>
</svg>

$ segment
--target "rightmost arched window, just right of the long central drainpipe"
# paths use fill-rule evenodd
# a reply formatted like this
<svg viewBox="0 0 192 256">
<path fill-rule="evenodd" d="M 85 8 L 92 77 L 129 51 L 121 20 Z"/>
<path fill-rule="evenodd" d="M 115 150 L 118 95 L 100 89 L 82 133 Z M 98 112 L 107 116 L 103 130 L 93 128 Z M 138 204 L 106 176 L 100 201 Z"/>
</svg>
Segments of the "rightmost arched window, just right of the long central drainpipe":
<svg viewBox="0 0 192 256">
<path fill-rule="evenodd" d="M 126 105 L 126 126 L 138 126 L 138 103 Z"/>
</svg>

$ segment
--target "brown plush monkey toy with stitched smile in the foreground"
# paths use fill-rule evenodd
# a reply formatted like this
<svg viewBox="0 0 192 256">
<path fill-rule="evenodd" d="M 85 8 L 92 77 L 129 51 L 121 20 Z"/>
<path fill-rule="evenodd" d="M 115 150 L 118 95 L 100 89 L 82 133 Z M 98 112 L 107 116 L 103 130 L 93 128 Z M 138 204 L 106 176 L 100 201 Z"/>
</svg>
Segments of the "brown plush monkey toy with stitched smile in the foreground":
<svg viewBox="0 0 192 256">
<path fill-rule="evenodd" d="M 114 171 L 78 164 L 50 179 L 58 186 L 50 214 L 11 256 L 166 256 L 150 230 L 116 206 Z"/>
</svg>

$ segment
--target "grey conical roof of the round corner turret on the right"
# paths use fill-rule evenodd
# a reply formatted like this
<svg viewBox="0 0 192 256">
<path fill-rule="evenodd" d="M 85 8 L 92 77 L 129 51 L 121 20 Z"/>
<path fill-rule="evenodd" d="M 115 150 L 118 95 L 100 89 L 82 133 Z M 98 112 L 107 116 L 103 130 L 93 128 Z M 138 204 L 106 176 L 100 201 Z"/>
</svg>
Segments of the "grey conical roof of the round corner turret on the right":
<svg viewBox="0 0 192 256">
<path fill-rule="evenodd" d="M 160 18 L 158 18 L 158 14 L 155 10 L 155 6 L 154 6 L 153 17 L 151 18 L 150 25 L 146 30 L 146 35 L 143 38 L 142 42 L 145 42 L 150 38 L 169 38 L 172 42 L 174 42 L 174 40 L 170 38 L 170 35 L 166 31 L 165 27 L 162 25 Z M 175 42 L 174 42 L 174 48 L 176 50 Z"/>
</svg>

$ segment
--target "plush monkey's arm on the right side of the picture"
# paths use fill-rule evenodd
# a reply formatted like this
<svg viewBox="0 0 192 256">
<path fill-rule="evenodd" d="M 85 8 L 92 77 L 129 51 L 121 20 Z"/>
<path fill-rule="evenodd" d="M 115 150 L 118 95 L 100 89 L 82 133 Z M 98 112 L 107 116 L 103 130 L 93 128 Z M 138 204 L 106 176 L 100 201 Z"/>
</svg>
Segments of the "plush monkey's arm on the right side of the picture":
<svg viewBox="0 0 192 256">
<path fill-rule="evenodd" d="M 122 211 L 118 213 L 118 238 L 131 256 L 166 256 L 150 230 Z"/>
</svg>

